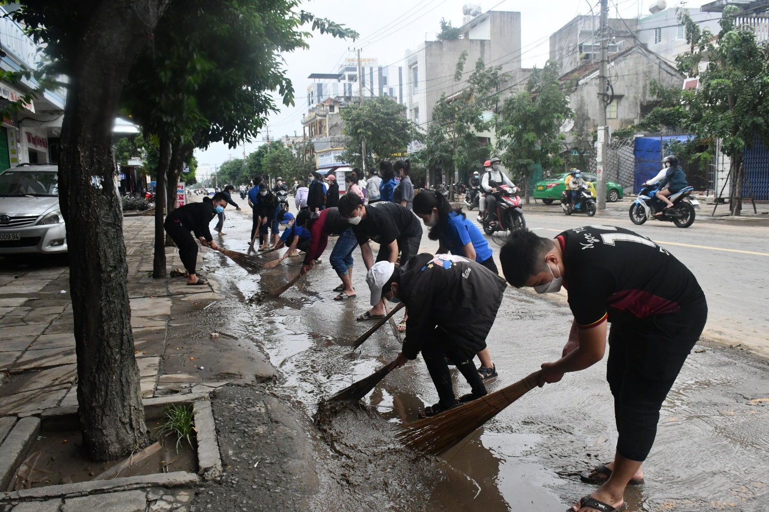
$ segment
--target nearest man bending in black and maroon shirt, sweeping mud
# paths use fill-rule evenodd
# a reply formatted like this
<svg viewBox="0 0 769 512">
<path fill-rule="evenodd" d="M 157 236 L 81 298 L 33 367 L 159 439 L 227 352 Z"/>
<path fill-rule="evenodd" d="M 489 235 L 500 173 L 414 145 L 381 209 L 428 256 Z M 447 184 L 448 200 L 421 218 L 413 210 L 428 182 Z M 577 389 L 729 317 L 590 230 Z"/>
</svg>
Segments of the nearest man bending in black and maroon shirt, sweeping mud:
<svg viewBox="0 0 769 512">
<path fill-rule="evenodd" d="M 611 322 L 607 380 L 614 395 L 617 451 L 613 463 L 582 475 L 603 485 L 572 507 L 611 512 L 623 504 L 628 483 L 643 481 L 641 463 L 654 444 L 662 402 L 704 329 L 704 293 L 667 250 L 614 226 L 578 227 L 553 240 L 518 230 L 501 249 L 500 260 L 513 286 L 548 293 L 562 285 L 568 291 L 571 333 L 563 357 L 542 365 L 540 385 L 601 361 Z"/>
</svg>

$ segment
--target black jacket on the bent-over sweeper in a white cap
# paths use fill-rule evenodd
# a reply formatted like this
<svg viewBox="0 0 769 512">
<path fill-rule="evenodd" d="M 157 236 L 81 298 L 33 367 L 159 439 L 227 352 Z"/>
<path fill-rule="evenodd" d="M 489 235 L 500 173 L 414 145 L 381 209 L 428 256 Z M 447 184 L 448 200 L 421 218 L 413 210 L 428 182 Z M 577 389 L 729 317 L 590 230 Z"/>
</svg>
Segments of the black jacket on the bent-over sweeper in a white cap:
<svg viewBox="0 0 769 512">
<path fill-rule="evenodd" d="M 462 256 L 421 253 L 409 259 L 398 296 L 408 307 L 403 355 L 415 359 L 438 325 L 461 345 L 484 342 L 507 283 Z"/>
</svg>

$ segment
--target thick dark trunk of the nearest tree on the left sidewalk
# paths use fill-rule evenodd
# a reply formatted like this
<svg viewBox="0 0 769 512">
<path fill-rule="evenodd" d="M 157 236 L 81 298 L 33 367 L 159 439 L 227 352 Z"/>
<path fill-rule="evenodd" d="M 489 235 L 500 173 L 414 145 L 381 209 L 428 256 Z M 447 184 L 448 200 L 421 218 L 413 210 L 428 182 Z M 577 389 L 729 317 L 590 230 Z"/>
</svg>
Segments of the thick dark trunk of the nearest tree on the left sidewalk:
<svg viewBox="0 0 769 512">
<path fill-rule="evenodd" d="M 100 2 L 91 27 L 72 51 L 59 205 L 70 248 L 78 415 L 85 454 L 92 461 L 115 460 L 148 442 L 131 335 L 112 124 L 128 70 L 166 3 Z"/>
</svg>

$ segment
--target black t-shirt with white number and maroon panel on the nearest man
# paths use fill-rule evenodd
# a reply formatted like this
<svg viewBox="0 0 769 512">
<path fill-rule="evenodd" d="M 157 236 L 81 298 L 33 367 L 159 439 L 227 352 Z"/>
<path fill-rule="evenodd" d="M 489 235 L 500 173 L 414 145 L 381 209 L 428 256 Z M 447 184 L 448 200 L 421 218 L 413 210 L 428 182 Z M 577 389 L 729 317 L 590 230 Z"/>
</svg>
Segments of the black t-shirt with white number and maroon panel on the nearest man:
<svg viewBox="0 0 769 512">
<path fill-rule="evenodd" d="M 556 236 L 564 287 L 582 327 L 674 312 L 704 299 L 694 274 L 645 236 L 615 226 L 583 226 Z"/>
</svg>

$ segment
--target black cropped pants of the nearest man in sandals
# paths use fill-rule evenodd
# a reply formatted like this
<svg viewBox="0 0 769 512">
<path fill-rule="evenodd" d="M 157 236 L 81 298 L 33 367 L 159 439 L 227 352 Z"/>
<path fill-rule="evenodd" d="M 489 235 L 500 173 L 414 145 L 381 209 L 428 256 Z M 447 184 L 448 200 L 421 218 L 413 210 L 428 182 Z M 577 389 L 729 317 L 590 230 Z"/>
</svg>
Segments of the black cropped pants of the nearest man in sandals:
<svg viewBox="0 0 769 512">
<path fill-rule="evenodd" d="M 609 333 L 606 380 L 614 395 L 617 451 L 631 461 L 646 460 L 660 408 L 707 320 L 701 299 L 681 311 L 636 322 L 614 322 Z"/>
</svg>

